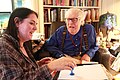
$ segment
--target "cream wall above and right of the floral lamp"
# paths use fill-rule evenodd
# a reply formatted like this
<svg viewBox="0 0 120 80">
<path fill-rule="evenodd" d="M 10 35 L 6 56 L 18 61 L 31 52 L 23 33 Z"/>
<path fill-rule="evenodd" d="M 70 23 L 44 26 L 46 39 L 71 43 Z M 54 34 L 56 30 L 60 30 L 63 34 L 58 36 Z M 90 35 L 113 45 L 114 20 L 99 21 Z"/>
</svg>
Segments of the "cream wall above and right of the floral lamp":
<svg viewBox="0 0 120 80">
<path fill-rule="evenodd" d="M 120 0 L 102 0 L 101 14 L 107 11 L 117 15 L 117 27 L 120 28 Z"/>
</svg>

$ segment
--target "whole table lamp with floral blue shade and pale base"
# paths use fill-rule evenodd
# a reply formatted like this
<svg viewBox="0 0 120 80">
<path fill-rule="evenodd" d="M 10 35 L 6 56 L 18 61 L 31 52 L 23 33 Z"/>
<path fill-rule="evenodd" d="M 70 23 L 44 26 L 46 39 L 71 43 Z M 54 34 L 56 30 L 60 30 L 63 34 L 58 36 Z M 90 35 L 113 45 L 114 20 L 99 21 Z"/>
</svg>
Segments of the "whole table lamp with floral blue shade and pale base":
<svg viewBox="0 0 120 80">
<path fill-rule="evenodd" d="M 106 42 L 105 46 L 109 47 L 113 35 L 113 29 L 117 26 L 116 15 L 112 13 L 102 14 L 99 18 L 99 29 L 102 32 L 102 41 Z M 108 46 L 108 45 L 109 46 Z"/>
</svg>

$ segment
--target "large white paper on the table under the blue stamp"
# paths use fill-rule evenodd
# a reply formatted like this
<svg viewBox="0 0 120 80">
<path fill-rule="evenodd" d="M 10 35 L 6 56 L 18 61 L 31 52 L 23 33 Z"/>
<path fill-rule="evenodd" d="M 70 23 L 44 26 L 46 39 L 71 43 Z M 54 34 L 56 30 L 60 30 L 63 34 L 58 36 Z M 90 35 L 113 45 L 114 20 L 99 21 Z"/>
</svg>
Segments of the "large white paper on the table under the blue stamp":
<svg viewBox="0 0 120 80">
<path fill-rule="evenodd" d="M 83 65 L 74 68 L 75 75 L 70 75 L 70 70 L 60 71 L 58 80 L 108 80 L 101 64 Z"/>
</svg>

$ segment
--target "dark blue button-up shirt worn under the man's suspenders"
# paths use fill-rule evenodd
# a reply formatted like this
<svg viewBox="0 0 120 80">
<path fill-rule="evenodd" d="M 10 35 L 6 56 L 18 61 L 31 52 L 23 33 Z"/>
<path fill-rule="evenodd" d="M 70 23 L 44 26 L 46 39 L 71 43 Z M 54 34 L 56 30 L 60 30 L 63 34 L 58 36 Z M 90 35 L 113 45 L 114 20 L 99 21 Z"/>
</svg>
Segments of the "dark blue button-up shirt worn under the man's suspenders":
<svg viewBox="0 0 120 80">
<path fill-rule="evenodd" d="M 96 32 L 92 25 L 85 24 L 85 29 L 87 33 L 88 39 L 88 48 L 86 49 L 84 38 L 82 37 L 82 28 L 77 34 L 72 36 L 72 40 L 75 45 L 73 45 L 72 40 L 70 39 L 70 33 L 66 30 L 66 36 L 64 40 L 64 47 L 62 48 L 62 38 L 63 38 L 63 30 L 64 26 L 58 28 L 55 33 L 46 41 L 45 48 L 52 53 L 52 56 L 55 58 L 59 58 L 62 54 L 67 54 L 69 56 L 76 56 L 82 53 L 86 53 L 92 59 L 95 52 L 98 50 L 98 46 L 96 45 Z M 82 39 L 82 43 L 81 43 Z M 80 45 L 82 48 L 80 49 Z M 81 51 L 80 51 L 81 50 Z"/>
</svg>

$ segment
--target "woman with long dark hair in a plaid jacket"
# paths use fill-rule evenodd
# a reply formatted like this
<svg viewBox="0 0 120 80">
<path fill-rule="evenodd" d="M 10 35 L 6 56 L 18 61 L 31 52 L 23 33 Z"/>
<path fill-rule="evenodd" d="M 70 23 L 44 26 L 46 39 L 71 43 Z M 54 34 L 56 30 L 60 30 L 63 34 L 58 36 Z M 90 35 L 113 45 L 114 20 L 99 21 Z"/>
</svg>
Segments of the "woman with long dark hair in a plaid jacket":
<svg viewBox="0 0 120 80">
<path fill-rule="evenodd" d="M 36 31 L 37 19 L 37 13 L 28 8 L 12 12 L 0 39 L 0 80 L 51 80 L 52 71 L 71 70 L 76 66 L 75 59 L 65 57 L 35 61 L 25 42 L 31 40 Z"/>
</svg>

